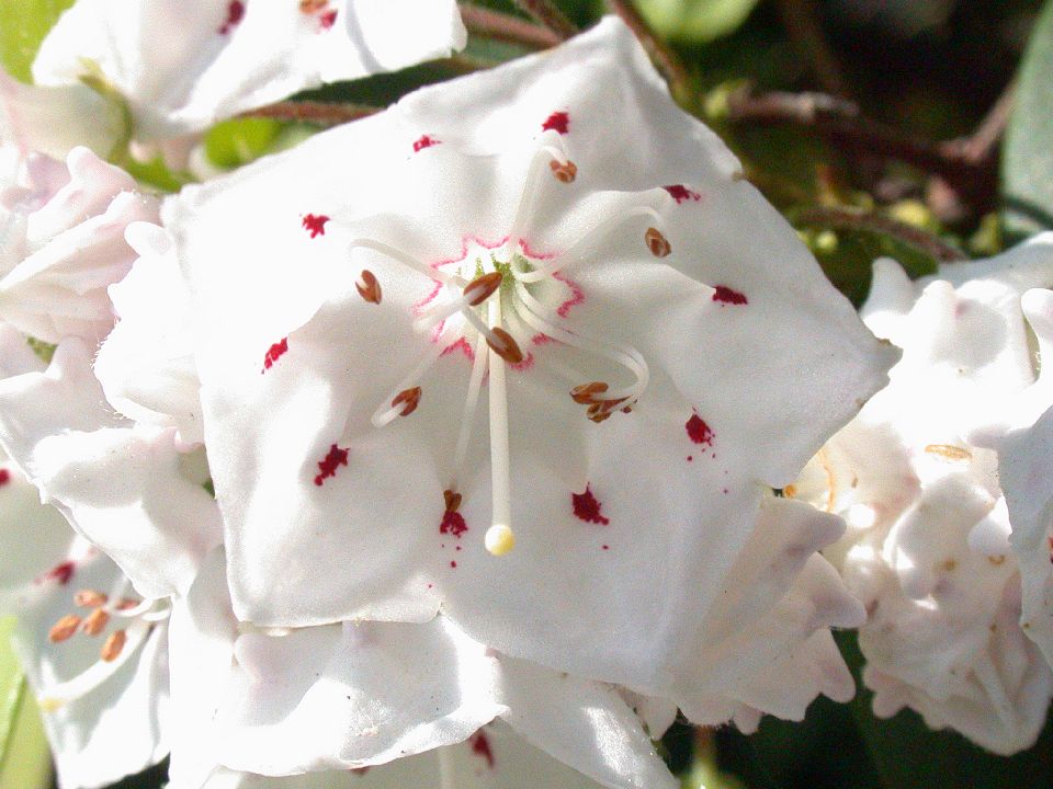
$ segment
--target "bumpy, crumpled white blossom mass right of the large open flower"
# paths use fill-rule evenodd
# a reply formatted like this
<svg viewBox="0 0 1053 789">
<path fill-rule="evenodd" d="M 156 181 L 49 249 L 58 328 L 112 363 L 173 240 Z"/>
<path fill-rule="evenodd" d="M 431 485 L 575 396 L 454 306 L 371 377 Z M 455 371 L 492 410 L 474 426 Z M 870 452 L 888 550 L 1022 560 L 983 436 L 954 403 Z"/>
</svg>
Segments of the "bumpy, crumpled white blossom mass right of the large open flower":
<svg viewBox="0 0 1053 789">
<path fill-rule="evenodd" d="M 910 707 L 999 754 L 1038 737 L 1053 673 L 1020 624 L 1023 564 L 1006 539 L 999 458 L 973 436 L 1011 420 L 1038 386 L 1021 296 L 1053 278 L 1051 242 L 917 283 L 878 261 L 863 319 L 903 359 L 788 491 L 848 522 L 826 553 L 867 606 L 859 643 L 874 711 Z M 1024 304 L 1039 307 L 1042 293 Z M 1024 625 L 1035 617 L 1024 610 Z"/>
</svg>

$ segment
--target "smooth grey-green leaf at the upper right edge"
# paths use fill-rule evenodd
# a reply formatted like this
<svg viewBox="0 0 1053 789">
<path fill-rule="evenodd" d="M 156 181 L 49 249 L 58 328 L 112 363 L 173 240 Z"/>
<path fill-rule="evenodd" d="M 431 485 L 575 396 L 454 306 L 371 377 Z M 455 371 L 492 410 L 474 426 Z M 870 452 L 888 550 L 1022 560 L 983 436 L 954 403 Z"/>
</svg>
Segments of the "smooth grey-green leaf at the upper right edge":
<svg viewBox="0 0 1053 789">
<path fill-rule="evenodd" d="M 1007 228 L 1053 228 L 1053 2 L 1046 2 L 1023 55 L 1001 151 Z"/>
</svg>

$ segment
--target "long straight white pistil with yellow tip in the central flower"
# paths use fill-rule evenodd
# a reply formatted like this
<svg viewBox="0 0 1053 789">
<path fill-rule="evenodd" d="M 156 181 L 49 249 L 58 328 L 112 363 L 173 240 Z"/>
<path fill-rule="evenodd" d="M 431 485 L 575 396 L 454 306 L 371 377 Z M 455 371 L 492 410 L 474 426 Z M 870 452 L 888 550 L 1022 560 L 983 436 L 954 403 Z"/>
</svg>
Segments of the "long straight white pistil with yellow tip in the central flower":
<svg viewBox="0 0 1053 789">
<path fill-rule="evenodd" d="M 489 302 L 490 323 L 499 327 L 501 322 L 501 301 Z M 505 333 L 509 340 L 511 335 Z M 517 346 L 518 347 L 518 346 Z M 521 352 L 520 352 L 521 353 Z M 495 556 L 507 553 L 516 545 L 511 522 L 511 469 L 508 451 L 508 389 L 505 384 L 506 357 L 490 346 L 490 474 L 492 480 L 492 526 L 487 529 L 484 545 Z M 496 530 L 495 530 L 496 529 Z M 494 535 L 491 538 L 490 535 Z M 500 552 L 498 552 L 500 551 Z"/>
</svg>

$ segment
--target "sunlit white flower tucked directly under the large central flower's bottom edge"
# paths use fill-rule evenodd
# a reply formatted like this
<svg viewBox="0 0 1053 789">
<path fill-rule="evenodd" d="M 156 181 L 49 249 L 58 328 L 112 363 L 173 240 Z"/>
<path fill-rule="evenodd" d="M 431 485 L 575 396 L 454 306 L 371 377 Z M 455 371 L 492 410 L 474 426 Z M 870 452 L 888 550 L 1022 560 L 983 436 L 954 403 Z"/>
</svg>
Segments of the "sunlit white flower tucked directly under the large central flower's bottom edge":
<svg viewBox="0 0 1053 789">
<path fill-rule="evenodd" d="M 444 617 L 245 631 L 224 564 L 222 550 L 207 559 L 172 614 L 178 789 L 217 765 L 279 776 L 382 765 L 495 718 L 604 786 L 676 785 L 610 686 L 499 655 Z"/>
</svg>

